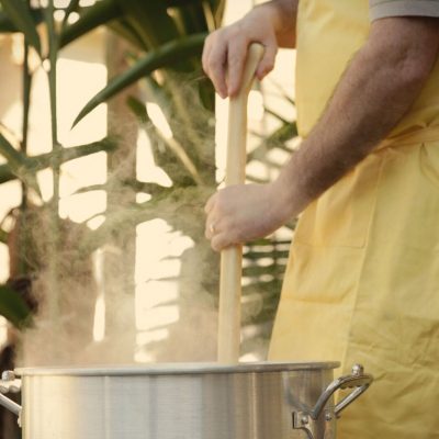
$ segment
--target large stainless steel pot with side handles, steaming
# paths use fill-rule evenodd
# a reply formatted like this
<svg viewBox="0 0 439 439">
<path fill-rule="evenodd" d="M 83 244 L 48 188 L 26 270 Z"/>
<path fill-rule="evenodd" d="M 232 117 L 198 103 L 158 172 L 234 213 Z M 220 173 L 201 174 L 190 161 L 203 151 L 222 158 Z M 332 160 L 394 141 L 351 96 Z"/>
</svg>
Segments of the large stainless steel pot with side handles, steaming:
<svg viewBox="0 0 439 439">
<path fill-rule="evenodd" d="M 0 391 L 21 387 L 14 412 L 24 439 L 334 439 L 336 418 L 372 376 L 338 364 L 161 364 L 21 369 Z M 334 392 L 352 387 L 334 405 Z"/>
</svg>

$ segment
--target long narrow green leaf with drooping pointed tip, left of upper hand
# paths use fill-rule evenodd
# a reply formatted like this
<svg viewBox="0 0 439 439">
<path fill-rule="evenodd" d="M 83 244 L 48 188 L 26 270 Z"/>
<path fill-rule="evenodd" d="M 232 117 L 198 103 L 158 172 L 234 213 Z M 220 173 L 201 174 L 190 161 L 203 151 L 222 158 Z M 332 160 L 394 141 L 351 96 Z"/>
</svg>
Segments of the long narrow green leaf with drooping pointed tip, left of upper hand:
<svg viewBox="0 0 439 439">
<path fill-rule="evenodd" d="M 205 37 L 205 33 L 191 35 L 164 44 L 158 49 L 147 54 L 123 75 L 113 78 L 104 89 L 95 94 L 80 111 L 72 126 L 99 104 L 105 102 L 144 76 L 150 75 L 154 70 L 159 68 L 179 64 L 181 60 L 188 59 L 189 56 L 199 56 L 203 48 Z"/>
</svg>

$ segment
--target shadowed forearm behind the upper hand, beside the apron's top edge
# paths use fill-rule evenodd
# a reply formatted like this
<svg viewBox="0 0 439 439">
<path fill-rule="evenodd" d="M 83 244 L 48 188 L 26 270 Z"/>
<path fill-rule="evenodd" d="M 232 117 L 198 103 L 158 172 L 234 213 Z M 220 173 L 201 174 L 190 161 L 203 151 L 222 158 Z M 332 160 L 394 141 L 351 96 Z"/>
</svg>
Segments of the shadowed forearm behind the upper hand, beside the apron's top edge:
<svg viewBox="0 0 439 439">
<path fill-rule="evenodd" d="M 254 9 L 255 13 L 260 12 L 271 18 L 279 47 L 295 47 L 297 7 L 299 0 L 272 0 Z"/>
</svg>

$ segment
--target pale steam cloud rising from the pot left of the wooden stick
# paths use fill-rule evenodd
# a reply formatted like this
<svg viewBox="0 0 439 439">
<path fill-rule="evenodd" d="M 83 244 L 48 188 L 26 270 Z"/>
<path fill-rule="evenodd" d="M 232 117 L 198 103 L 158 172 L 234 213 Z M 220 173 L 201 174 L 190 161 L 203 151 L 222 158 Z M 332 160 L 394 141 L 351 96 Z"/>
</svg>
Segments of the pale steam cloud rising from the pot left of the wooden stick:
<svg viewBox="0 0 439 439">
<path fill-rule="evenodd" d="M 214 190 L 214 180 L 209 180 L 206 176 L 210 171 L 204 166 L 204 162 L 212 162 L 212 115 L 198 103 L 191 83 L 180 87 L 180 92 L 171 113 L 178 114 L 179 105 L 181 109 L 188 99 L 191 102 L 191 120 L 196 121 L 190 130 L 187 115 L 172 120 L 172 137 L 167 133 L 161 138 L 159 127 L 150 121 L 144 126 L 150 140 L 156 142 L 156 166 L 168 169 L 178 189 L 168 188 L 169 192 L 164 192 L 160 184 L 136 180 L 136 159 L 140 155 L 132 147 L 127 132 L 134 132 L 137 137 L 138 124 L 124 123 L 119 132 L 113 130 L 112 133 L 119 139 L 122 151 L 115 155 L 114 172 L 108 176 L 104 188 L 91 188 L 104 189 L 108 193 L 108 210 L 102 213 L 105 215 L 102 225 L 90 230 L 86 223 L 61 218 L 54 228 L 50 206 L 33 207 L 26 213 L 24 221 L 31 230 L 29 239 L 33 249 L 27 255 L 27 263 L 34 273 L 33 295 L 38 309 L 33 326 L 22 334 L 19 365 L 216 359 L 218 257 L 204 238 L 203 213 L 204 202 Z M 192 167 L 188 171 L 187 166 L 181 175 L 170 175 L 179 168 L 183 169 L 182 165 L 188 165 L 184 164 L 188 157 L 181 154 L 181 148 L 187 148 L 188 144 L 198 151 L 195 160 L 192 158 L 190 164 Z M 137 168 L 140 166 L 137 164 Z M 191 178 L 194 181 L 187 184 Z M 153 194 L 151 200 L 136 202 L 136 193 L 147 193 L 151 189 L 153 192 L 161 191 L 162 195 L 155 198 Z M 138 280 L 135 272 L 142 272 L 145 266 L 139 259 L 136 227 L 138 232 L 138 224 L 148 224 L 155 218 L 166 222 L 169 230 L 162 234 L 162 243 L 157 241 L 153 246 L 143 243 L 144 252 L 160 252 L 167 245 L 167 236 L 176 234 L 176 230 L 181 230 L 180 236 L 185 237 L 190 245 L 178 256 L 164 257 L 177 263 L 173 279 L 161 274 Z M 142 289 L 143 296 L 139 296 L 136 282 L 149 285 Z M 155 291 L 160 282 L 173 282 L 176 295 L 171 302 L 160 300 L 161 290 Z M 145 302 L 145 295 L 149 297 L 146 302 L 150 303 L 150 309 L 142 315 L 138 302 Z M 148 322 L 142 322 L 148 315 L 170 307 L 177 309 L 173 322 L 156 328 L 148 328 Z M 97 325 L 101 325 L 100 329 Z M 143 328 L 145 326 L 146 329 Z M 155 338 L 153 333 L 157 334 L 157 330 L 161 331 L 161 336 Z M 146 336 L 148 334 L 149 337 Z"/>
</svg>

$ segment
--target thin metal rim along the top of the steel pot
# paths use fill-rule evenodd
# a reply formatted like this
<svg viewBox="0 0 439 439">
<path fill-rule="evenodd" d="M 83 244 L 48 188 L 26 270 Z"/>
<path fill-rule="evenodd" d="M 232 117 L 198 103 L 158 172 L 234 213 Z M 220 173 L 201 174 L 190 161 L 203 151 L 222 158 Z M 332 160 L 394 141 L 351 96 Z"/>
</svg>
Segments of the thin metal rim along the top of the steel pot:
<svg viewBox="0 0 439 439">
<path fill-rule="evenodd" d="M 240 364 L 221 363 L 151 363 L 133 365 L 93 365 L 93 367 L 37 367 L 18 368 L 18 375 L 68 375 L 68 376 L 124 376 L 124 375 L 188 375 L 216 373 L 262 373 L 292 371 L 322 371 L 337 369 L 338 361 L 326 362 L 249 362 Z"/>
</svg>

